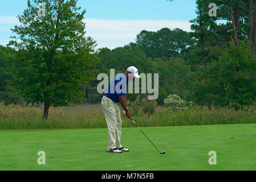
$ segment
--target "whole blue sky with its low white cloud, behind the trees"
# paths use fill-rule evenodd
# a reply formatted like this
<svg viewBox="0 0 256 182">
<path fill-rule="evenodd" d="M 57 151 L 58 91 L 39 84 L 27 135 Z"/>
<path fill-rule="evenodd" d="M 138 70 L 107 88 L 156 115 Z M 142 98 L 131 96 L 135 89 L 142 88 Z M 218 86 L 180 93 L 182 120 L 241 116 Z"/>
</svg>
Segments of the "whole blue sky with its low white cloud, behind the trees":
<svg viewBox="0 0 256 182">
<path fill-rule="evenodd" d="M 157 31 L 168 27 L 190 31 L 189 20 L 196 18 L 196 0 L 78 0 L 86 9 L 87 36 L 97 48 L 115 48 L 135 42 L 141 30 Z M 0 1 L 0 44 L 10 40 L 15 18 L 27 7 L 26 0 Z"/>
</svg>

